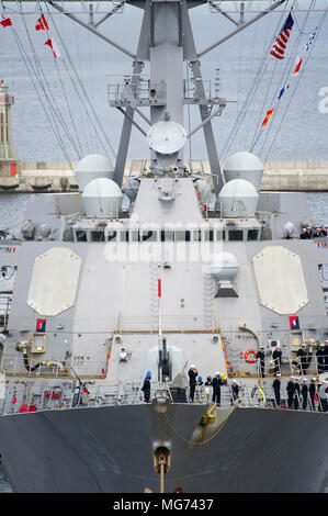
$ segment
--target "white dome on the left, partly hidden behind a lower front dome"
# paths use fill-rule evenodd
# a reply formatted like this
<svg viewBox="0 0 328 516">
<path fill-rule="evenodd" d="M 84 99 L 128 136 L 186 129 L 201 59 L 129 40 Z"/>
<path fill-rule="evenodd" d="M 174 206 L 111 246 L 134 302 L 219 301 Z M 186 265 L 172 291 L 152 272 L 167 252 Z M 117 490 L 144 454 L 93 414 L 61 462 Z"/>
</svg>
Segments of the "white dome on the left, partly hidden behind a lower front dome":
<svg viewBox="0 0 328 516">
<path fill-rule="evenodd" d="M 88 182 L 97 178 L 113 179 L 114 168 L 109 158 L 100 154 L 89 154 L 82 158 L 76 168 L 76 178 L 81 191 Z"/>
</svg>

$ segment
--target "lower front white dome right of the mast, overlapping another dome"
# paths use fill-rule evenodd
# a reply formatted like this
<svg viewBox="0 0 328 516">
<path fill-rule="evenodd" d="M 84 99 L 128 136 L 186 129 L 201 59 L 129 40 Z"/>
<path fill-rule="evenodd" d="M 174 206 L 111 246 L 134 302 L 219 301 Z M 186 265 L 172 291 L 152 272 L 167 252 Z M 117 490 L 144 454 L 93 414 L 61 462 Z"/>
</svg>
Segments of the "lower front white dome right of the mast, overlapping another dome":
<svg viewBox="0 0 328 516">
<path fill-rule="evenodd" d="M 256 187 L 245 179 L 233 179 L 224 184 L 219 194 L 223 217 L 253 216 L 259 194 Z"/>
</svg>

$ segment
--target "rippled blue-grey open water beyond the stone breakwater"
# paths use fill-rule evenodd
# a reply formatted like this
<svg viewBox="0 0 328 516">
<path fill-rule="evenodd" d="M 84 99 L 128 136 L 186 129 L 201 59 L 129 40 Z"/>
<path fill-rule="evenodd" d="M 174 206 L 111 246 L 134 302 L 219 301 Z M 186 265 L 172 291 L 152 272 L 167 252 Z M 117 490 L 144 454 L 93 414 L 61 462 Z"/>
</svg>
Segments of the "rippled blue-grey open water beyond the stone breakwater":
<svg viewBox="0 0 328 516">
<path fill-rule="evenodd" d="M 255 2 L 253 2 L 255 3 Z M 291 4 L 292 2 L 290 2 Z M 301 0 L 299 5 L 308 5 L 308 0 Z M 326 4 L 325 1 L 317 1 L 316 5 Z M 87 4 L 87 2 L 86 2 Z M 112 8 L 112 2 L 93 2 L 95 21 L 100 19 L 106 9 Z M 19 52 L 16 41 L 10 29 L 0 32 L 0 55 L 1 76 L 14 88 L 16 99 L 13 108 L 13 137 L 16 150 L 22 159 L 26 160 L 59 160 L 65 159 L 63 152 L 54 138 L 52 124 L 49 123 L 49 110 L 47 101 L 39 100 L 43 94 L 39 83 L 33 72 L 27 72 L 25 59 L 31 63 L 37 55 L 37 63 L 42 66 L 47 85 L 44 88 L 52 88 L 56 98 L 56 108 L 63 113 L 67 121 L 67 126 L 71 127 L 67 109 L 69 99 L 70 111 L 73 114 L 76 126 L 78 127 L 79 139 L 83 154 L 103 152 L 99 144 L 99 135 L 94 134 L 93 126 L 86 115 L 84 108 L 78 98 L 76 88 L 64 66 L 63 60 L 69 64 L 66 51 L 79 72 L 89 98 L 94 105 L 103 127 L 112 146 L 117 149 L 120 141 L 120 128 L 122 114 L 109 106 L 108 85 L 109 82 L 121 82 L 123 75 L 132 71 L 131 58 L 120 53 L 108 43 L 90 34 L 83 27 L 67 20 L 61 14 L 54 14 L 54 22 L 60 33 L 65 48 L 60 48 L 63 58 L 58 59 L 57 66 L 50 55 L 50 49 L 44 46 L 44 33 L 35 32 L 34 25 L 37 19 L 34 4 L 23 4 L 26 15 L 26 27 L 22 23 L 16 3 L 7 3 L 8 12 L 14 22 L 20 41 L 24 45 L 26 56 L 23 59 Z M 73 11 L 81 12 L 81 4 L 73 5 Z M 29 12 L 29 14 L 27 14 Z M 53 12 L 53 11 L 52 11 Z M 287 12 L 287 11 L 286 11 Z M 87 21 L 86 14 L 79 14 Z M 297 53 L 303 52 L 303 47 L 308 40 L 308 35 L 316 27 L 321 13 L 310 13 L 307 18 L 304 34 L 299 37 Z M 214 131 L 217 148 L 220 156 L 229 146 L 229 152 L 237 149 L 249 150 L 257 137 L 261 126 L 261 121 L 267 110 L 276 104 L 275 91 L 282 83 L 286 75 L 287 59 L 285 63 L 273 63 L 275 59 L 268 59 L 268 67 L 259 83 L 253 79 L 259 69 L 259 64 L 263 58 L 265 48 L 276 35 L 276 27 L 284 21 L 285 14 L 273 13 L 264 16 L 260 22 L 240 32 L 236 37 L 229 40 L 217 47 L 202 60 L 202 74 L 204 80 L 214 80 L 215 69 L 220 69 L 220 94 L 230 101 L 220 117 L 214 120 Z M 290 49 L 294 49 L 298 37 L 298 30 L 302 26 L 304 15 L 295 14 L 296 24 L 293 29 L 289 42 Z M 206 47 L 223 35 L 234 30 L 234 25 L 219 14 L 213 14 L 207 5 L 203 5 L 191 11 L 191 20 L 194 29 L 194 36 L 199 49 Z M 100 32 L 106 34 L 117 43 L 135 52 L 138 31 L 140 27 L 142 11 L 137 8 L 125 5 L 123 13 L 111 16 L 100 26 Z M 56 36 L 58 46 L 58 35 L 50 25 Z M 276 109 L 276 116 L 272 120 L 272 126 L 268 127 L 268 133 L 261 134 L 258 139 L 255 153 L 264 159 L 328 159 L 326 134 L 328 126 L 328 114 L 323 114 L 318 110 L 321 88 L 328 87 L 328 16 L 320 34 L 317 36 L 312 55 L 304 66 L 304 74 L 299 77 L 297 87 L 293 82 L 293 91 L 285 94 L 284 104 Z M 30 40 L 29 40 L 30 36 Z M 59 40 L 60 41 L 60 40 Z M 296 52 L 295 51 L 295 52 Z M 289 56 L 287 56 L 289 57 Z M 293 63 L 292 63 L 293 65 Z M 36 65 L 34 65 L 36 69 Z M 148 67 L 145 68 L 147 75 Z M 44 82 L 44 81 L 43 81 Z M 63 89 L 64 86 L 64 89 Z M 37 90 L 38 94 L 37 94 Z M 252 88 L 257 88 L 257 93 L 249 105 L 245 116 L 240 110 L 245 98 L 251 94 Z M 295 91 L 294 91 L 295 89 Z M 289 97 L 287 97 L 289 94 Z M 185 110 L 185 127 L 195 126 L 200 122 L 197 108 Z M 235 121 L 239 121 L 239 130 L 229 137 L 229 130 Z M 147 125 L 142 122 L 147 130 Z M 73 131 L 72 131 L 73 132 Z M 42 145 L 39 145 L 42 138 Z M 67 143 L 67 148 L 71 159 L 76 159 L 75 150 Z M 190 148 L 186 146 L 185 153 L 189 157 Z M 113 157 L 113 156 L 111 156 Z M 129 157 L 147 158 L 148 146 L 145 137 L 133 130 L 133 138 L 129 147 Z M 202 132 L 196 133 L 192 138 L 192 158 L 206 159 L 206 150 Z"/>
</svg>

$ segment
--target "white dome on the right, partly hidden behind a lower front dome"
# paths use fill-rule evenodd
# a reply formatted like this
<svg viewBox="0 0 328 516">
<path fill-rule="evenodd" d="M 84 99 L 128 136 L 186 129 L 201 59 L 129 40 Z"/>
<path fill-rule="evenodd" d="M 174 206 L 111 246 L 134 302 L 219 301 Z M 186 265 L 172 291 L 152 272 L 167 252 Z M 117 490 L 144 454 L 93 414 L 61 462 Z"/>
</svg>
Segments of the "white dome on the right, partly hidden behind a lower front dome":
<svg viewBox="0 0 328 516">
<path fill-rule="evenodd" d="M 259 190 L 263 177 L 263 165 L 259 158 L 251 153 L 236 153 L 226 160 L 224 177 L 226 181 L 246 179 Z"/>
</svg>

